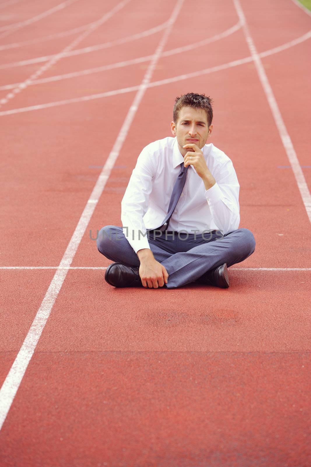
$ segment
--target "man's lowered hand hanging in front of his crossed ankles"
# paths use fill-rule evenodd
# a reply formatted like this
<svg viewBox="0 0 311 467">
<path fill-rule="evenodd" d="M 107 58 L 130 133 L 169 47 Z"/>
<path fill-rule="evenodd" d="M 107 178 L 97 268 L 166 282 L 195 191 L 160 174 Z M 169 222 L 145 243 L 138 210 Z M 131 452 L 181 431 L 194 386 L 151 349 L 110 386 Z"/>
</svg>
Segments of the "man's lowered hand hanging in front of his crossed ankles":
<svg viewBox="0 0 311 467">
<path fill-rule="evenodd" d="M 158 289 L 167 284 L 168 274 L 164 266 L 154 259 L 152 251 L 142 249 L 137 252 L 140 261 L 139 276 L 145 289 Z"/>
</svg>

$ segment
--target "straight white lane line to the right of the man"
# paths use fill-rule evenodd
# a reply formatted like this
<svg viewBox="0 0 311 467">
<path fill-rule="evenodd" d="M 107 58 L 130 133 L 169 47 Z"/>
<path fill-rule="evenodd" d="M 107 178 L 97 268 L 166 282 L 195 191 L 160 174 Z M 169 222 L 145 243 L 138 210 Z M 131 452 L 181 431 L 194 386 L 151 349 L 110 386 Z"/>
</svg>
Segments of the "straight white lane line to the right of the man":
<svg viewBox="0 0 311 467">
<path fill-rule="evenodd" d="M 263 91 L 264 91 L 264 93 L 266 95 L 266 98 L 268 100 L 268 103 L 269 103 L 269 106 L 270 106 L 274 121 L 276 123 L 276 127 L 277 127 L 277 129 L 279 131 L 280 138 L 281 138 L 281 141 L 283 143 L 283 147 L 284 147 L 285 152 L 287 154 L 287 157 L 288 157 L 288 160 L 290 162 L 291 168 L 292 168 L 292 170 L 294 172 L 296 182 L 297 182 L 297 186 L 298 186 L 298 189 L 300 191 L 300 195 L 301 195 L 301 198 L 303 200 L 305 210 L 306 210 L 307 215 L 309 217 L 309 220 L 311 222 L 311 195 L 310 195 L 310 191 L 308 189 L 308 185 L 306 184 L 303 171 L 302 171 L 302 169 L 300 167 L 300 163 L 298 161 L 296 151 L 294 149 L 293 143 L 291 142 L 290 135 L 288 134 L 288 131 L 287 131 L 286 127 L 285 127 L 285 123 L 283 121 L 280 109 L 279 109 L 279 107 L 278 107 L 278 105 L 276 103 L 276 98 L 275 98 L 275 96 L 273 94 L 273 91 L 272 91 L 272 88 L 270 86 L 268 77 L 267 77 L 266 72 L 265 72 L 265 70 L 263 68 L 262 61 L 261 61 L 261 59 L 259 57 L 259 54 L 258 54 L 258 52 L 256 50 L 255 43 L 254 43 L 254 41 L 253 41 L 253 39 L 252 39 L 252 37 L 250 35 L 249 27 L 247 25 L 247 22 L 246 22 L 246 19 L 245 19 L 243 10 L 242 10 L 240 0 L 233 0 L 233 2 L 234 2 L 234 5 L 235 5 L 236 12 L 237 12 L 237 14 L 238 14 L 238 16 L 240 18 L 241 23 L 242 23 L 242 28 L 243 28 L 243 32 L 244 32 L 244 35 L 245 35 L 245 39 L 246 39 L 246 42 L 247 42 L 247 44 L 249 46 L 249 51 L 250 51 L 250 53 L 252 55 L 253 61 L 255 63 L 256 70 L 257 70 L 257 73 L 258 73 L 258 77 L 259 77 L 260 82 L 261 82 L 261 84 L 263 86 Z"/>
</svg>

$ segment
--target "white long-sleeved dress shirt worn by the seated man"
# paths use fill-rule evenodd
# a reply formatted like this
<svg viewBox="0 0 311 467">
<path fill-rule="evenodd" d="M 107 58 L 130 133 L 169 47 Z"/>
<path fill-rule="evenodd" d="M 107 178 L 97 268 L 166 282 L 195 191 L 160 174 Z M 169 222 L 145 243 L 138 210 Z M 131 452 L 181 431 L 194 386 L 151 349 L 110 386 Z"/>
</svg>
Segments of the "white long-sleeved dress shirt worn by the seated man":
<svg viewBox="0 0 311 467">
<path fill-rule="evenodd" d="M 167 227 L 167 231 L 196 232 L 196 238 L 212 230 L 232 232 L 240 223 L 240 185 L 231 159 L 213 143 L 205 144 L 201 151 L 216 183 L 206 190 L 202 178 L 190 165 Z M 146 230 L 163 224 L 183 162 L 176 137 L 152 142 L 139 154 L 121 202 L 123 232 L 135 253 L 150 249 Z"/>
</svg>

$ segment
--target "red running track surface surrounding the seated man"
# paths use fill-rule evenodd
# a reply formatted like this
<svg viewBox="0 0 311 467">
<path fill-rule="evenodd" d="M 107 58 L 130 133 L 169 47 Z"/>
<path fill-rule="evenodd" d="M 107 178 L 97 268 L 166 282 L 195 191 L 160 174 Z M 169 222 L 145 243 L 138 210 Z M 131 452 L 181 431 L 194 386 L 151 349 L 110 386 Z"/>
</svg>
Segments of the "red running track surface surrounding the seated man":
<svg viewBox="0 0 311 467">
<path fill-rule="evenodd" d="M 1 467 L 310 466 L 310 221 L 236 9 L 258 53 L 270 50 L 263 69 L 310 186 L 310 38 L 289 43 L 311 18 L 291 0 L 180 4 L 151 76 L 169 82 L 145 90 L 71 263 L 110 264 L 90 230 L 121 225 L 140 150 L 170 135 L 175 96 L 205 92 L 211 141 L 241 185 L 240 227 L 256 238 L 255 253 L 229 269 L 230 288 L 113 289 L 104 269 L 69 269 L 25 375 L 9 373 L 25 361 L 21 346 L 176 8 L 131 0 L 111 13 L 118 3 L 78 0 L 7 28 L 57 5 L 0 9 L 0 380 L 17 391 L 1 400 Z M 37 58 L 72 43 L 79 52 Z M 43 82 L 28 81 L 36 73 Z"/>
</svg>

